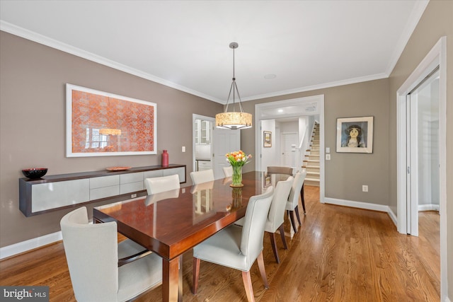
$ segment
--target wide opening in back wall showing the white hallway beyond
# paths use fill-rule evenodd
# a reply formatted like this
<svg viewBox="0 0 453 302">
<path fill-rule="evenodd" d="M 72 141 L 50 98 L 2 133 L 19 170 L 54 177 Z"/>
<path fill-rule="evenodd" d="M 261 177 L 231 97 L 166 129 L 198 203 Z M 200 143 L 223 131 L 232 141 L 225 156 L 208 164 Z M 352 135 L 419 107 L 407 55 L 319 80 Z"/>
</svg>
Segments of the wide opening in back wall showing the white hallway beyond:
<svg viewBox="0 0 453 302">
<path fill-rule="evenodd" d="M 306 166 L 305 158 L 312 143 L 314 129 L 316 137 L 316 161 L 319 167 L 310 171 L 319 178 L 319 200 L 324 202 L 324 95 L 280 100 L 255 105 L 256 167 L 267 170 L 271 165 L 291 166 L 295 171 Z M 294 139 L 295 137 L 295 139 Z M 312 156 L 314 151 L 312 151 Z M 308 160 L 307 160 L 308 161 Z M 309 168 L 307 168 L 307 173 Z M 307 174 L 308 178 L 308 174 Z"/>
</svg>

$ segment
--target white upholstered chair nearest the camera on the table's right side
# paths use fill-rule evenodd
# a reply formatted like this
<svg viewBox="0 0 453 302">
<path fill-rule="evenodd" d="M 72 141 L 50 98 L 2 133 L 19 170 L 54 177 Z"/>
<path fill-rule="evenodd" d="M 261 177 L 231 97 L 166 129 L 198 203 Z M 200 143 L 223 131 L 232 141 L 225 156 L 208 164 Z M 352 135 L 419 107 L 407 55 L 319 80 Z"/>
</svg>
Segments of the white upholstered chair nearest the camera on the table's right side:
<svg viewBox="0 0 453 302">
<path fill-rule="evenodd" d="M 255 301 L 250 269 L 258 260 L 261 278 L 265 288 L 269 288 L 263 260 L 263 236 L 273 194 L 274 189 L 270 186 L 264 194 L 248 200 L 243 227 L 227 226 L 193 248 L 193 294 L 197 294 L 200 260 L 241 270 L 248 301 Z"/>
</svg>

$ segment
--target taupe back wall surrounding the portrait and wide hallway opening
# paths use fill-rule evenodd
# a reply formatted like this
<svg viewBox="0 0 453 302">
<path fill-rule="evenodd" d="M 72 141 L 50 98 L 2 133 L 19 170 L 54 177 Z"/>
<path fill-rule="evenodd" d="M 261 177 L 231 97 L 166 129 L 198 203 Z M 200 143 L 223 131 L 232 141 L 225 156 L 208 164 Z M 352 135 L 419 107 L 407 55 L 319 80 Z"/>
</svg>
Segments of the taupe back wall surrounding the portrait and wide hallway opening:
<svg viewBox="0 0 453 302">
<path fill-rule="evenodd" d="M 367 81 L 291 95 L 280 95 L 243 103 L 246 112 L 255 114 L 255 105 L 324 95 L 324 134 L 331 148 L 331 161 L 326 161 L 326 197 L 372 204 L 387 204 L 389 192 L 389 80 Z M 336 153 L 336 119 L 338 117 L 374 116 L 373 153 Z M 255 150 L 255 129 L 241 130 L 241 148 Z M 253 170 L 246 165 L 244 170 Z M 371 173 L 370 173 L 371 172 Z M 369 192 L 362 192 L 368 185 Z"/>
</svg>

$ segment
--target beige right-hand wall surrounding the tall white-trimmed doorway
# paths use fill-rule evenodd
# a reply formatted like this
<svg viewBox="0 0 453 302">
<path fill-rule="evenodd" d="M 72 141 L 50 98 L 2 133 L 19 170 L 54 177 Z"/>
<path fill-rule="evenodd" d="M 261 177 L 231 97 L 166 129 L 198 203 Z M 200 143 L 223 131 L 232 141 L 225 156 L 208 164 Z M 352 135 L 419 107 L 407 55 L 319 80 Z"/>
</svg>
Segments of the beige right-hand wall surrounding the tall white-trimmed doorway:
<svg viewBox="0 0 453 302">
<path fill-rule="evenodd" d="M 396 91 L 442 36 L 447 36 L 447 274 L 453 301 L 453 1 L 431 0 L 389 77 L 389 206 L 396 212 Z"/>
</svg>

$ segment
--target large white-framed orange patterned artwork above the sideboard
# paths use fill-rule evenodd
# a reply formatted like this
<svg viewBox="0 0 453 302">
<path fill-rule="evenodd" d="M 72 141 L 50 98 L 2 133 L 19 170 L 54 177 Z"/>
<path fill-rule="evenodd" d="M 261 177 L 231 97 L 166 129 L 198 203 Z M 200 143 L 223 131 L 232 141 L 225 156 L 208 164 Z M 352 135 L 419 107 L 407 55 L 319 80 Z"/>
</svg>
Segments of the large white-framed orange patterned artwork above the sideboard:
<svg viewBox="0 0 453 302">
<path fill-rule="evenodd" d="M 156 154 L 156 103 L 66 84 L 66 156 Z"/>
</svg>

